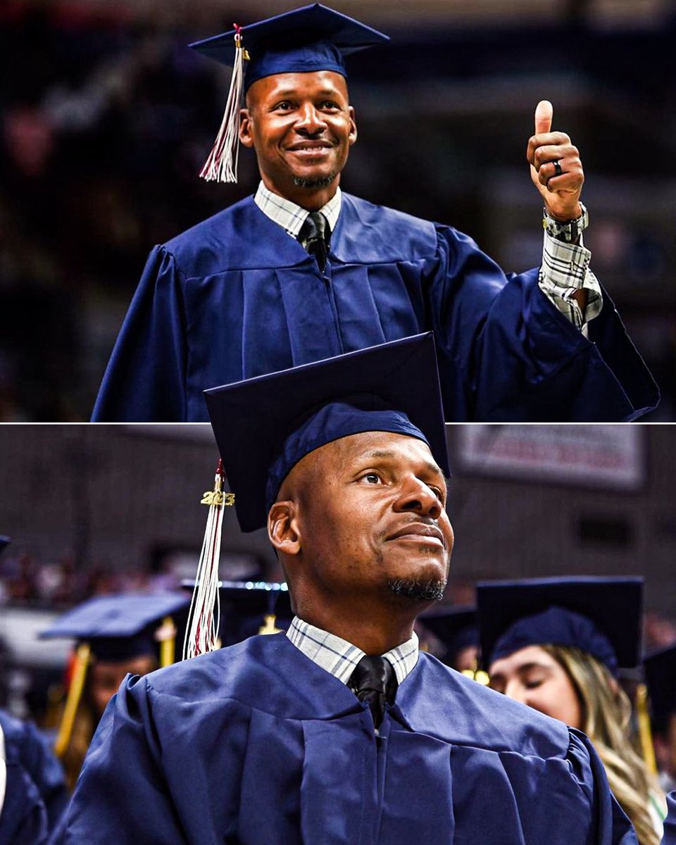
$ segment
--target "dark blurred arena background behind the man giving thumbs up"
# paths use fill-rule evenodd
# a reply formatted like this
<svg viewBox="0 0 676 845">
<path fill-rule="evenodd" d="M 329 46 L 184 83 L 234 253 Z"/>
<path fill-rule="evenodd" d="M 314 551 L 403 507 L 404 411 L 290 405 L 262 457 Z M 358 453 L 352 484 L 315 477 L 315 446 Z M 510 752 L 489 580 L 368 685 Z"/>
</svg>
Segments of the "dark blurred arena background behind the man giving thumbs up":
<svg viewBox="0 0 676 845">
<path fill-rule="evenodd" d="M 88 419 L 150 248 L 254 190 L 248 150 L 236 186 L 196 175 L 228 73 L 186 45 L 296 5 L 0 6 L 0 420 Z M 662 389 L 651 419 L 676 418 L 673 0 L 331 5 L 392 36 L 352 58 L 344 187 L 457 226 L 505 270 L 539 263 L 524 153 L 553 101 L 586 166 L 592 265 Z"/>
</svg>

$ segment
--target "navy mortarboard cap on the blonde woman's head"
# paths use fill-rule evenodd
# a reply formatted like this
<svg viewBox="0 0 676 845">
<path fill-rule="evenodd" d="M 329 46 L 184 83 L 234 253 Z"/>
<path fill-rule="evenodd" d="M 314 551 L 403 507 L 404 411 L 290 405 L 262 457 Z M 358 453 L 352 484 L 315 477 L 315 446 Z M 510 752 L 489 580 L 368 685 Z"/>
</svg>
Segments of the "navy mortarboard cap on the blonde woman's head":
<svg viewBox="0 0 676 845">
<path fill-rule="evenodd" d="M 526 646 L 574 646 L 614 674 L 640 660 L 643 579 L 536 578 L 477 585 L 482 662 Z"/>
</svg>

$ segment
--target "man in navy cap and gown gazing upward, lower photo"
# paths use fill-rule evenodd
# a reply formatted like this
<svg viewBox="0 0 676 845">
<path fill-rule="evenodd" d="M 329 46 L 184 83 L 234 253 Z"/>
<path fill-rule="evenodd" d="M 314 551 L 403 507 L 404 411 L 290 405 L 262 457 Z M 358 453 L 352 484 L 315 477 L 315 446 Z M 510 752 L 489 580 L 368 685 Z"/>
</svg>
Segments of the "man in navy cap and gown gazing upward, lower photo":
<svg viewBox="0 0 676 845">
<path fill-rule="evenodd" d="M 238 520 L 267 522 L 296 617 L 126 679 L 66 842 L 635 842 L 586 737 L 418 650 L 453 544 L 432 336 L 208 401 Z"/>
</svg>

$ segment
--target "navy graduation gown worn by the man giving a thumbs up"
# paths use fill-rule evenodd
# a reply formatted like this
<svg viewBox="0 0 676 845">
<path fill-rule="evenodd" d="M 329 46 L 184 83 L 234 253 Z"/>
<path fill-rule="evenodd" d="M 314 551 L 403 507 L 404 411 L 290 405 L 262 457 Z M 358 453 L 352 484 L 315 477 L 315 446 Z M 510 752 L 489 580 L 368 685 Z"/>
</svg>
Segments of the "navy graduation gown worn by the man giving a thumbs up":
<svg viewBox="0 0 676 845">
<path fill-rule="evenodd" d="M 447 422 L 631 420 L 658 391 L 607 293 L 587 340 L 471 238 L 343 194 L 325 275 L 252 197 L 155 248 L 92 419 L 207 421 L 202 391 L 433 330 Z"/>
</svg>

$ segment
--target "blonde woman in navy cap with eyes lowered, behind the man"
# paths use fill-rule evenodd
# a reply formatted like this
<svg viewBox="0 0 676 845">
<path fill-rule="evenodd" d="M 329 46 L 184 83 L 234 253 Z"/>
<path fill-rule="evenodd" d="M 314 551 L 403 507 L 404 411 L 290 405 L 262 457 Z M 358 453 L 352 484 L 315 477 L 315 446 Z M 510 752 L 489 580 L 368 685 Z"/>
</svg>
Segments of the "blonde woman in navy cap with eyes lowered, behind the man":
<svg viewBox="0 0 676 845">
<path fill-rule="evenodd" d="M 493 690 L 584 731 L 641 845 L 662 837 L 663 796 L 630 741 L 617 681 L 641 654 L 641 578 L 542 578 L 477 585 L 482 662 Z"/>
</svg>

